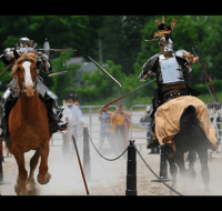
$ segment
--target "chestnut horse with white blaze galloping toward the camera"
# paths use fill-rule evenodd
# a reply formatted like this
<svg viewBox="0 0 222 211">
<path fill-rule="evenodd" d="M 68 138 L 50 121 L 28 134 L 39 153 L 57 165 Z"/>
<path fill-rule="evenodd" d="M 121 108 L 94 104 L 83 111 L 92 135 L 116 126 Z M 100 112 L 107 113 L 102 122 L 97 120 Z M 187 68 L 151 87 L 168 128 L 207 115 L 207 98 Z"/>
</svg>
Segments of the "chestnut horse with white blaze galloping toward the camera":
<svg viewBox="0 0 222 211">
<path fill-rule="evenodd" d="M 46 184 L 51 175 L 48 172 L 49 141 L 51 133 L 48 122 L 48 110 L 39 98 L 37 88 L 37 51 L 20 56 L 14 51 L 16 63 L 11 76 L 17 79 L 19 98 L 10 111 L 8 119 L 9 135 L 7 145 L 17 160 L 19 174 L 14 191 L 17 194 L 33 194 L 36 182 L 33 173 L 41 158 L 38 182 Z M 36 150 L 30 160 L 30 174 L 24 167 L 24 153 Z"/>
</svg>

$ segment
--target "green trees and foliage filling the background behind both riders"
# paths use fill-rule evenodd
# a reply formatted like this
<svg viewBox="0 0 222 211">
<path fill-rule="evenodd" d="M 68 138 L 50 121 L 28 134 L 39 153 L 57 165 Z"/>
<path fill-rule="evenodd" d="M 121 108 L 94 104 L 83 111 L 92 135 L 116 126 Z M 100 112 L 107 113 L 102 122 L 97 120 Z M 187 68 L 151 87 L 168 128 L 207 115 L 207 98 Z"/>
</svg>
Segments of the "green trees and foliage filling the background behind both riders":
<svg viewBox="0 0 222 211">
<path fill-rule="evenodd" d="M 165 16 L 165 23 L 170 26 L 175 18 L 178 23 L 172 32 L 174 50 L 184 49 L 193 53 L 195 46 L 201 50 L 204 63 L 213 81 L 216 92 L 222 90 L 222 46 L 221 16 Z M 105 103 L 140 86 L 144 82 L 138 81 L 143 63 L 153 54 L 159 52 L 158 41 L 147 42 L 158 31 L 155 19 L 161 16 L 0 16 L 0 51 L 6 48 L 16 47 L 21 37 L 33 39 L 38 48 L 43 47 L 46 38 L 50 47 L 54 49 L 77 49 L 74 54 L 50 53 L 53 72 L 69 70 L 68 74 L 48 78 L 41 74 L 44 83 L 58 97 L 61 104 L 62 99 L 70 92 L 75 91 L 85 103 Z M 101 70 L 94 73 L 83 72 L 81 87 L 73 82 L 77 66 L 64 66 L 70 57 L 99 58 L 99 39 L 102 43 L 102 60 L 107 61 L 108 70 L 117 78 L 122 88 L 119 88 Z M 195 50 L 196 52 L 196 50 Z M 200 60 L 200 59 L 199 59 Z M 6 66 L 0 61 L 0 69 Z M 193 66 L 192 87 L 208 93 L 204 84 L 204 71 L 199 64 Z M 153 78 L 148 79 L 152 80 Z M 0 94 L 6 91 L 10 82 L 9 72 L 1 77 Z M 147 81 L 145 81 L 147 82 Z M 122 102 L 142 103 L 152 99 L 157 83 L 133 93 Z M 145 103 L 145 102 L 144 102 Z"/>
</svg>

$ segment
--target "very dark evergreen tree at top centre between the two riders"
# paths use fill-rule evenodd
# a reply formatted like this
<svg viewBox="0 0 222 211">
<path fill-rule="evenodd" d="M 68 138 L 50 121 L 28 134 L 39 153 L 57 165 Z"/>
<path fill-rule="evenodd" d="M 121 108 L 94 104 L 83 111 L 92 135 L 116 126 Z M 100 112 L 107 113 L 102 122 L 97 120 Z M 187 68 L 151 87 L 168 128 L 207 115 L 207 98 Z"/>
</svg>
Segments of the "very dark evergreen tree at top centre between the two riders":
<svg viewBox="0 0 222 211">
<path fill-rule="evenodd" d="M 102 17 L 103 23 L 98 28 L 98 37 L 102 42 L 103 60 L 121 64 L 127 76 L 133 73 L 133 63 L 140 51 L 141 30 L 148 19 L 148 16 Z"/>
</svg>

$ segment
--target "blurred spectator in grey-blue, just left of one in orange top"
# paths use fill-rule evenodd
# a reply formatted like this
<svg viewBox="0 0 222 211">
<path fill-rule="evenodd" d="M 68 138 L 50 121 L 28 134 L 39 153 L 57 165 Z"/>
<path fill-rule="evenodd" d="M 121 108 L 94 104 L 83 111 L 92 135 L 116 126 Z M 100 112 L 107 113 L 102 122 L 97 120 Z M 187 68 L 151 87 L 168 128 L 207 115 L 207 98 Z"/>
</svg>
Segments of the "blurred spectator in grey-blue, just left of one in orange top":
<svg viewBox="0 0 222 211">
<path fill-rule="evenodd" d="M 100 120 L 100 142 L 99 142 L 99 151 L 102 151 L 102 147 L 104 143 L 104 140 L 107 138 L 109 144 L 110 144 L 110 149 L 111 152 L 113 151 L 113 147 L 112 147 L 112 140 L 111 140 L 111 127 L 110 127 L 110 115 L 111 112 L 109 111 L 108 108 L 105 108 L 104 110 L 102 110 L 100 112 L 99 115 L 99 120 Z"/>
</svg>

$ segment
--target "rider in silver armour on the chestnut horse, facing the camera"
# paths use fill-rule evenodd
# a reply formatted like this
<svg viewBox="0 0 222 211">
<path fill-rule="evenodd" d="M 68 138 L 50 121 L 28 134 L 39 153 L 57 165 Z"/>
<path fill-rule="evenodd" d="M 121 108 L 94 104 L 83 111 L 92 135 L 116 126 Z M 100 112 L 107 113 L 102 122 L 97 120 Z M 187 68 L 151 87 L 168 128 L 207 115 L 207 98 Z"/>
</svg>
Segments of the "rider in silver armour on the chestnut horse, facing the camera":
<svg viewBox="0 0 222 211">
<path fill-rule="evenodd" d="M 16 50 L 20 54 L 23 54 L 24 52 L 34 52 L 37 46 L 37 42 L 24 37 L 19 39 Z M 10 66 L 14 61 L 13 50 L 14 48 L 7 48 L 3 51 L 1 59 L 4 64 Z M 52 71 L 49 57 L 40 51 L 37 51 L 37 68 L 44 73 L 50 73 Z M 49 128 L 51 133 L 54 133 L 58 130 L 64 130 L 68 122 L 62 122 L 60 120 L 62 118 L 62 109 L 58 108 L 58 97 L 43 84 L 43 79 L 40 76 L 38 76 L 37 89 L 40 98 L 44 101 L 48 108 L 48 118 L 50 123 Z M 17 79 L 12 79 L 8 84 L 8 89 L 1 97 L 1 107 L 4 111 L 1 123 L 1 128 L 3 129 L 0 133 L 1 137 L 8 133 L 8 115 L 18 97 L 19 93 L 17 92 Z"/>
</svg>

